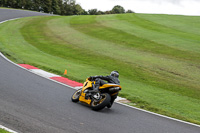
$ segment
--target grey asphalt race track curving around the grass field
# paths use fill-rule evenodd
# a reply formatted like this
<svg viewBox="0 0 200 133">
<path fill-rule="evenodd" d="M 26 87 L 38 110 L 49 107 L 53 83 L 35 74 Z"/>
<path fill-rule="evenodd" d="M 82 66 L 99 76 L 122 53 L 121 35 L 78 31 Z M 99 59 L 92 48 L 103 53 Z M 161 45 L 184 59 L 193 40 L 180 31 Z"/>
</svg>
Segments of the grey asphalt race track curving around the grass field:
<svg viewBox="0 0 200 133">
<path fill-rule="evenodd" d="M 0 9 L 0 21 L 45 15 Z M 0 57 L 0 125 L 19 133 L 200 133 L 190 124 L 115 103 L 96 112 L 72 103 L 73 89 Z"/>
</svg>

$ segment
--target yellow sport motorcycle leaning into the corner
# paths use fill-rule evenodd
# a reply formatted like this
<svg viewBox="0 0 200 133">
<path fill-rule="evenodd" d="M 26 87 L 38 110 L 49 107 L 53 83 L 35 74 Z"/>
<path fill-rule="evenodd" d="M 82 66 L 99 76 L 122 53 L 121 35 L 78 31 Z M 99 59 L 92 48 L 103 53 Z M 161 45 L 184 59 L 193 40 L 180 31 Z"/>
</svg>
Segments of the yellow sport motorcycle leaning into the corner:
<svg viewBox="0 0 200 133">
<path fill-rule="evenodd" d="M 119 91 L 122 89 L 117 84 L 103 84 L 99 87 L 98 92 L 92 91 L 95 81 L 87 78 L 83 87 L 76 90 L 72 95 L 72 102 L 82 102 L 91 106 L 92 110 L 98 111 L 105 107 L 111 108 L 114 100 L 117 98 Z"/>
</svg>

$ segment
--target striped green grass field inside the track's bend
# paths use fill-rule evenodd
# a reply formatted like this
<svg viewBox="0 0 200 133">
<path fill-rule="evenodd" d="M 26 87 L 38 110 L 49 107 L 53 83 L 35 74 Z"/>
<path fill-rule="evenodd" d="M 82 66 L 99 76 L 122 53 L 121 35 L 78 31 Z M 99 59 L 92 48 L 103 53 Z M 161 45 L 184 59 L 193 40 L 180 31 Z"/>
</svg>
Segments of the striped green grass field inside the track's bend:
<svg viewBox="0 0 200 133">
<path fill-rule="evenodd" d="M 130 105 L 200 124 L 200 17 L 31 17 L 0 25 L 0 51 L 84 82 L 120 72 Z"/>
</svg>

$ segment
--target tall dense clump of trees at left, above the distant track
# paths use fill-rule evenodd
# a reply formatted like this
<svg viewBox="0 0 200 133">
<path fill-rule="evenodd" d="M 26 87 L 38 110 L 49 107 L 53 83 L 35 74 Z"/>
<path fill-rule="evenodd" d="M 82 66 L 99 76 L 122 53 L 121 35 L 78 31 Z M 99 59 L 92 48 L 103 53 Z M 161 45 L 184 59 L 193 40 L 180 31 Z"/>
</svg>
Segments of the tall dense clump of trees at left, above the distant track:
<svg viewBox="0 0 200 133">
<path fill-rule="evenodd" d="M 75 0 L 0 0 L 0 6 L 60 15 L 88 14 Z"/>
</svg>

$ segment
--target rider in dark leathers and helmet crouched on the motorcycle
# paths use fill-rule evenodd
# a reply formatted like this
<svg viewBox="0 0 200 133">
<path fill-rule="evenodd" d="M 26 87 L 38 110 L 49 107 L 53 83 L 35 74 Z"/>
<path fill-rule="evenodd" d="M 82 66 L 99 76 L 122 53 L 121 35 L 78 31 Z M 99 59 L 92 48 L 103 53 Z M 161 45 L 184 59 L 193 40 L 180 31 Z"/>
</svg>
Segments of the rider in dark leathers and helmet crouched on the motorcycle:
<svg viewBox="0 0 200 133">
<path fill-rule="evenodd" d="M 95 80 L 95 86 L 93 88 L 93 90 L 95 92 L 98 92 L 99 86 L 102 86 L 102 85 L 106 84 L 107 82 L 120 85 L 120 81 L 118 78 L 119 78 L 118 71 L 112 71 L 110 73 L 110 75 L 108 75 L 108 76 L 91 76 L 91 77 L 89 77 L 89 79 Z M 106 80 L 107 82 L 105 82 L 103 80 Z"/>
</svg>

